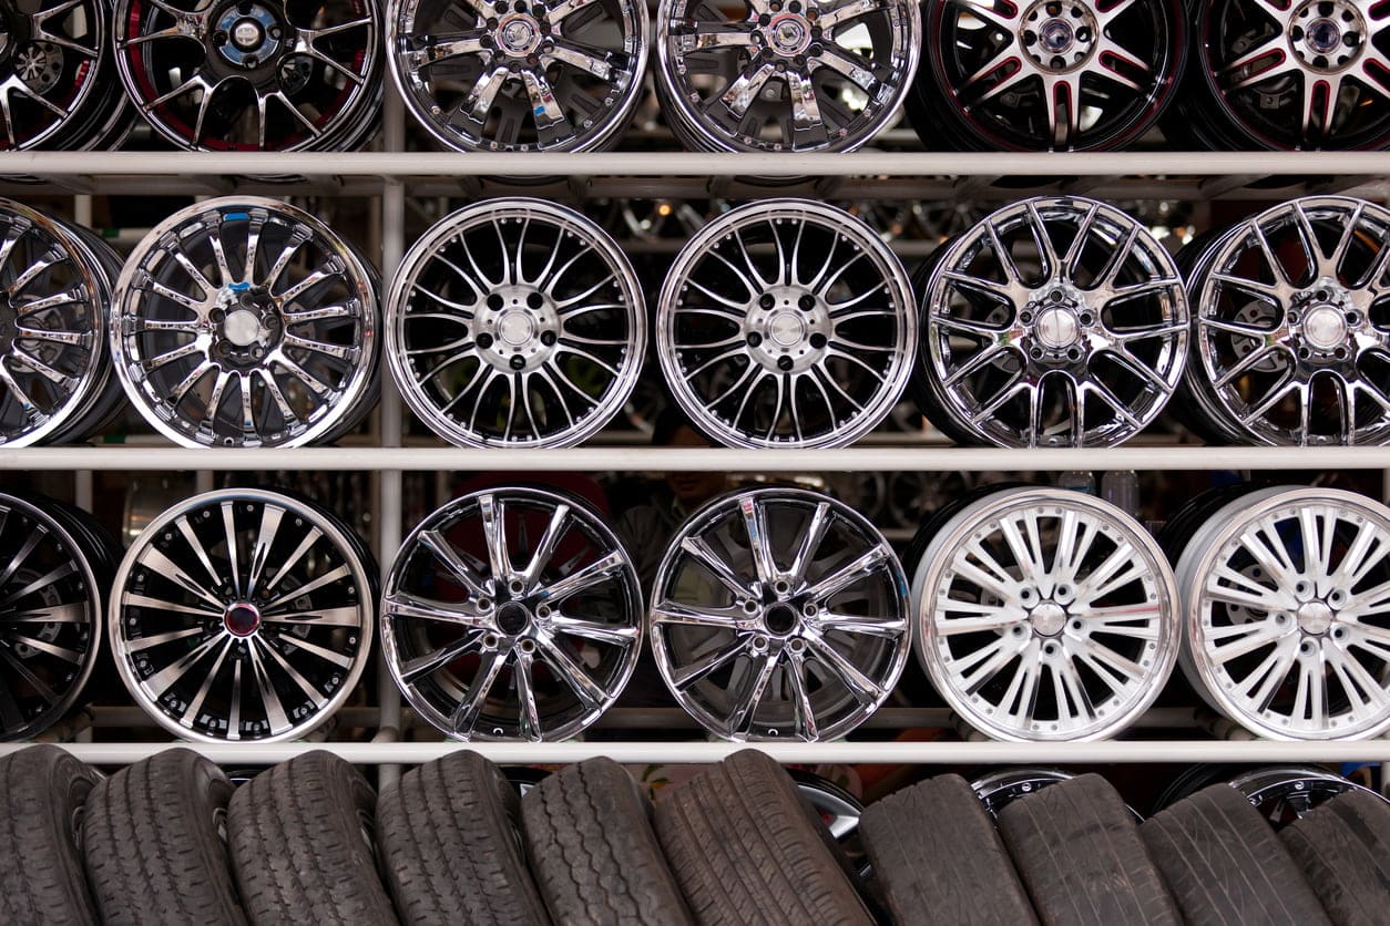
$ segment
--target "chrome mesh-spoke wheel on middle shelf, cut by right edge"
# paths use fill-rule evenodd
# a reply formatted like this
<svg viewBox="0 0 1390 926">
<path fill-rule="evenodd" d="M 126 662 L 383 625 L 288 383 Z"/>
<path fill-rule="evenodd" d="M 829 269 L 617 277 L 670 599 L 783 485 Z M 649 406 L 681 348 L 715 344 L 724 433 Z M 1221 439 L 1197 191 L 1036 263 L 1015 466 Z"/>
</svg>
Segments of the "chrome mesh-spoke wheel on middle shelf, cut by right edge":
<svg viewBox="0 0 1390 926">
<path fill-rule="evenodd" d="M 1272 207 L 1188 273 L 1195 411 L 1257 444 L 1390 443 L 1390 210 L 1341 196 Z"/>
</svg>

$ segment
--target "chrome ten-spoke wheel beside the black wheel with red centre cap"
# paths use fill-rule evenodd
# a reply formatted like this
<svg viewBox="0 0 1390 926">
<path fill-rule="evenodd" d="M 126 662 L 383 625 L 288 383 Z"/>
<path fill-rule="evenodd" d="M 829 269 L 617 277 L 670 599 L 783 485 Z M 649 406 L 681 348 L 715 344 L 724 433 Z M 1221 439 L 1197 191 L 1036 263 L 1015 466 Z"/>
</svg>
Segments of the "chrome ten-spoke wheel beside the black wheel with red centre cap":
<svg viewBox="0 0 1390 926">
<path fill-rule="evenodd" d="M 386 665 L 456 740 L 567 740 L 642 646 L 637 571 L 603 516 L 542 489 L 477 491 L 406 539 L 381 604 Z"/>
</svg>

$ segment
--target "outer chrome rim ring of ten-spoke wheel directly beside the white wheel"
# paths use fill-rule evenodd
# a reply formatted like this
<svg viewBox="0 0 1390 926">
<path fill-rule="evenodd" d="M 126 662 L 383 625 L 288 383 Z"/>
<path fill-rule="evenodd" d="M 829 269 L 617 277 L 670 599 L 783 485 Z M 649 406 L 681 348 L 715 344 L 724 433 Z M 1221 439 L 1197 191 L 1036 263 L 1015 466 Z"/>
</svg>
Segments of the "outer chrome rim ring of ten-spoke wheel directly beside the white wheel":
<svg viewBox="0 0 1390 926">
<path fill-rule="evenodd" d="M 819 491 L 810 491 L 808 489 L 780 487 L 780 486 L 766 487 L 766 489 L 734 490 L 716 496 L 710 501 L 696 508 L 695 512 L 691 514 L 685 519 L 685 522 L 671 533 L 671 539 L 667 541 L 666 546 L 666 553 L 662 555 L 662 564 L 656 571 L 656 578 L 652 580 L 652 598 L 653 598 L 652 604 L 655 604 L 657 593 L 662 589 L 664 589 L 667 582 L 670 580 L 670 573 L 674 564 L 681 558 L 680 541 L 688 536 L 692 536 L 696 532 L 708 529 L 712 523 L 717 521 L 723 521 L 726 510 L 733 510 L 737 514 L 739 504 L 745 498 L 752 498 L 755 501 L 763 503 L 764 505 L 767 501 L 790 501 L 790 503 L 809 504 L 809 505 L 819 505 L 821 503 L 828 503 L 831 510 L 835 514 L 838 514 L 847 523 L 849 523 L 860 534 L 862 539 L 866 540 L 877 539 L 878 543 L 883 544 L 883 547 L 888 551 L 888 558 L 885 559 L 888 565 L 888 579 L 897 587 L 899 607 L 902 609 L 903 621 L 908 626 L 903 628 L 903 632 L 898 637 L 895 644 L 885 640 L 885 643 L 894 646 L 894 653 L 888 671 L 884 675 L 885 680 L 884 680 L 883 697 L 876 698 L 872 704 L 860 707 L 848 716 L 835 721 L 834 723 L 820 726 L 820 723 L 817 722 L 819 736 L 815 740 L 801 740 L 799 737 L 795 736 L 764 737 L 756 734 L 730 737 L 726 736 L 724 732 L 720 729 L 721 723 L 719 718 L 706 711 L 705 707 L 701 705 L 689 694 L 688 690 L 687 691 L 678 690 L 676 683 L 671 680 L 671 665 L 674 664 L 674 661 L 671 659 L 671 653 L 666 646 L 666 634 L 657 632 L 660 622 L 657 622 L 652 616 L 652 612 L 648 611 L 646 623 L 651 625 L 648 629 L 648 636 L 651 639 L 652 659 L 653 662 L 656 662 L 656 668 L 662 675 L 662 682 L 666 683 L 666 689 L 667 691 L 670 691 L 676 702 L 680 704 L 681 708 L 689 716 L 692 716 L 702 727 L 705 727 L 706 730 L 709 730 L 710 733 L 713 733 L 726 743 L 780 743 L 780 741 L 826 743 L 830 740 L 841 739 L 842 736 L 862 726 L 870 716 L 873 716 L 878 711 L 878 708 L 884 705 L 884 702 L 890 697 L 892 697 L 894 690 L 898 687 L 898 682 L 902 679 L 902 672 L 908 665 L 908 650 L 912 648 L 912 636 L 913 636 L 912 625 L 915 623 L 912 601 L 910 598 L 908 598 L 906 594 L 908 579 L 902 569 L 902 562 L 898 559 L 898 554 L 894 553 L 892 544 L 890 544 L 887 540 L 883 539 L 883 534 L 878 532 L 878 529 L 874 528 L 867 518 L 855 511 L 852 507 L 844 504 L 837 498 L 824 496 Z M 753 707 L 755 714 L 758 705 Z"/>
</svg>

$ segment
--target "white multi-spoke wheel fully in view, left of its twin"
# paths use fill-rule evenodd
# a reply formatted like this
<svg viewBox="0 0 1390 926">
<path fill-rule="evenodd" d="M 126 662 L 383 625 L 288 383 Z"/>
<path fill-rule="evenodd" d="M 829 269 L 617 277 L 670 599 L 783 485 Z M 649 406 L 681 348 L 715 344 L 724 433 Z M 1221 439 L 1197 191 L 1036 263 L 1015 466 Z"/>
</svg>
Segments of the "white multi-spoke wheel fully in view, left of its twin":
<svg viewBox="0 0 1390 926">
<path fill-rule="evenodd" d="M 1177 658 L 1173 575 L 1143 525 L 1052 487 L 1004 489 L 952 516 L 912 583 L 917 658 L 999 740 L 1115 736 Z"/>
</svg>

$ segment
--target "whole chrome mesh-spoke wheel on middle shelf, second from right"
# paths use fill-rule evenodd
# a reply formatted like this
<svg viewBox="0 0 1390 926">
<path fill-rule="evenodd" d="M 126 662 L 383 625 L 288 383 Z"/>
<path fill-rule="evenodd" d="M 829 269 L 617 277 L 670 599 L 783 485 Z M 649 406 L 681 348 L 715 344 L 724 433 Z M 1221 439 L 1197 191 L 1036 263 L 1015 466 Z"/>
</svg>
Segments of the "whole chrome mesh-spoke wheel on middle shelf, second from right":
<svg viewBox="0 0 1390 926">
<path fill-rule="evenodd" d="M 1104 203 L 1006 205 L 933 255 L 919 287 L 916 393 L 963 443 L 1113 446 L 1158 416 L 1182 376 L 1182 276 Z"/>
</svg>

